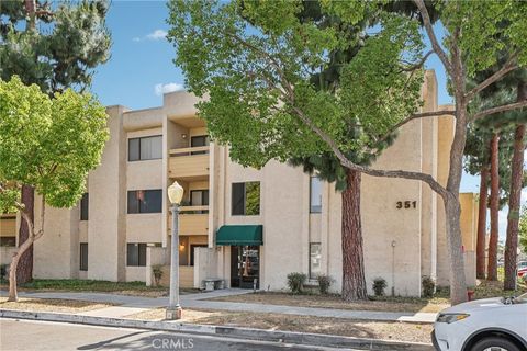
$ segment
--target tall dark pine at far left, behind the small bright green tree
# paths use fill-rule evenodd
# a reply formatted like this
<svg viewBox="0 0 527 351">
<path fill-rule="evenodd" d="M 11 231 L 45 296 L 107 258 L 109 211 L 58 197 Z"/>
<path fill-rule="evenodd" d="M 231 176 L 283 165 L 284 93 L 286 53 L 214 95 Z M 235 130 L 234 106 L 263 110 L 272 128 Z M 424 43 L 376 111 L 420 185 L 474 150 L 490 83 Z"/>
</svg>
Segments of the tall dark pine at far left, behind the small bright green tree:
<svg viewBox="0 0 527 351">
<path fill-rule="evenodd" d="M 93 68 L 110 58 L 105 27 L 108 1 L 0 1 L 0 79 L 19 76 L 53 97 L 67 88 L 85 90 Z M 34 190 L 22 188 L 22 203 L 33 218 Z M 19 245 L 30 228 L 22 222 Z M 33 247 L 19 265 L 19 282 L 32 279 Z"/>
</svg>

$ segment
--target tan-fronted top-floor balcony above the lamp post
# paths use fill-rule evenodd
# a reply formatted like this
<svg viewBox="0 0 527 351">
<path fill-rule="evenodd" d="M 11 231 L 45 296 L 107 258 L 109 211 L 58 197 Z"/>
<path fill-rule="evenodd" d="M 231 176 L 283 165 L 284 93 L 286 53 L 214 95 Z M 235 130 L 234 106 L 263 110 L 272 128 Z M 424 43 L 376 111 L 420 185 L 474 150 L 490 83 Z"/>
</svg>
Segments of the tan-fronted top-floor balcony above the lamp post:
<svg viewBox="0 0 527 351">
<path fill-rule="evenodd" d="M 192 179 L 209 176 L 209 146 L 171 149 L 169 178 Z"/>
</svg>

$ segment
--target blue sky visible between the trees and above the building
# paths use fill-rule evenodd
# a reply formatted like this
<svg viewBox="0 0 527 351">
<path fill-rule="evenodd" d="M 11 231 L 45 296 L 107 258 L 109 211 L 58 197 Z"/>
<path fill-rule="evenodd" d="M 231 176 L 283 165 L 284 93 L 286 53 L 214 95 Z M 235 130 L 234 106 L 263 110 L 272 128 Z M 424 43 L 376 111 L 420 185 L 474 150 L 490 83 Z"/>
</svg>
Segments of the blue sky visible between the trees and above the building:
<svg viewBox="0 0 527 351">
<path fill-rule="evenodd" d="M 97 69 L 92 91 L 105 105 L 132 110 L 159 106 L 162 92 L 183 89 L 183 76 L 172 59 L 175 49 L 165 38 L 167 7 L 164 1 L 113 1 L 108 15 L 112 33 L 112 57 Z M 446 75 L 437 56 L 426 68 L 435 69 L 439 104 L 451 103 Z M 463 176 L 461 192 L 478 192 L 479 178 Z M 506 212 L 501 213 L 501 237 L 505 235 Z"/>
</svg>

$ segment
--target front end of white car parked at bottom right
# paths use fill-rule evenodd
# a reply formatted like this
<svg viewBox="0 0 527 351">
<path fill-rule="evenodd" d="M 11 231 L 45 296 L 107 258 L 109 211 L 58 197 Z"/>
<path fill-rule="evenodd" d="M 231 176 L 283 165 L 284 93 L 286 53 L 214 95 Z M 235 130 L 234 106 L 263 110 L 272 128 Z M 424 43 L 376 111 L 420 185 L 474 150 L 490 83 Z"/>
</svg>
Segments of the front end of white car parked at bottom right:
<svg viewBox="0 0 527 351">
<path fill-rule="evenodd" d="M 440 351 L 526 351 L 527 294 L 459 304 L 441 310 L 431 333 Z"/>
</svg>

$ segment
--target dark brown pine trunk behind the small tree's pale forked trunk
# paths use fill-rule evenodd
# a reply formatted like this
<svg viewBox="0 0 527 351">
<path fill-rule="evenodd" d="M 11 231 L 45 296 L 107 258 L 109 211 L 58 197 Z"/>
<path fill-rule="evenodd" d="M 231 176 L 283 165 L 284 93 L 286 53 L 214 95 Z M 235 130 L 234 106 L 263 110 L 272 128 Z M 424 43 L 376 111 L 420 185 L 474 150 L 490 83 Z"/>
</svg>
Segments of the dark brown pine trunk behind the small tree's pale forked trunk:
<svg viewBox="0 0 527 351">
<path fill-rule="evenodd" d="M 30 185 L 22 185 L 22 203 L 30 219 L 34 220 L 35 190 Z M 19 247 L 30 237 L 30 228 L 26 220 L 21 220 L 19 229 Z M 33 279 L 33 245 L 31 245 L 18 262 L 16 281 L 19 284 L 27 283 Z"/>
</svg>

